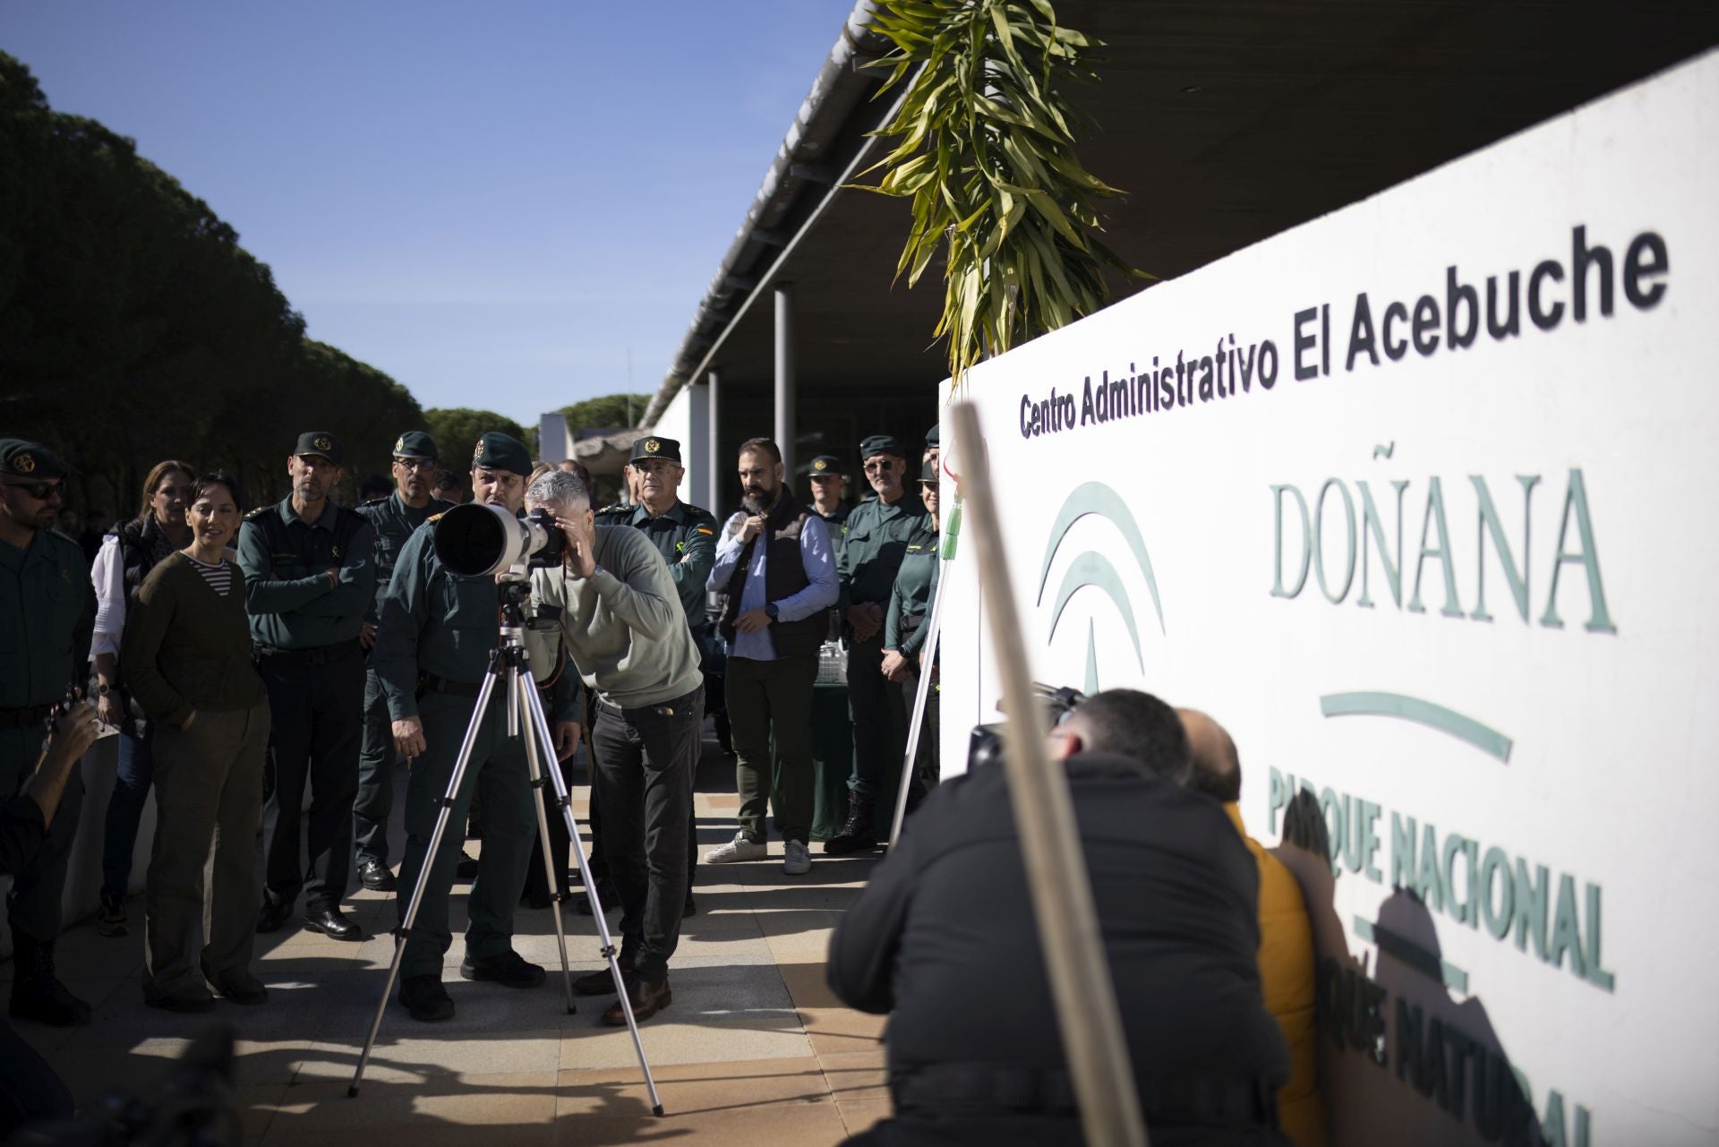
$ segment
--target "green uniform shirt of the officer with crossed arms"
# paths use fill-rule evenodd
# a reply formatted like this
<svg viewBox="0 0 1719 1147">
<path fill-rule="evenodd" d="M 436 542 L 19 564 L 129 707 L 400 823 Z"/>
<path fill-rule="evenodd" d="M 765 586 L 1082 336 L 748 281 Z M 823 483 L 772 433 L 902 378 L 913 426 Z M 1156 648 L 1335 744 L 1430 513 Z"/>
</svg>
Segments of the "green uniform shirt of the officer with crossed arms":
<svg viewBox="0 0 1719 1147">
<path fill-rule="evenodd" d="M 358 511 L 328 504 L 313 524 L 292 499 L 263 506 L 239 526 L 239 567 L 251 638 L 265 648 L 316 648 L 352 641 L 375 607 L 376 545 Z M 328 585 L 330 567 L 340 576 Z"/>
</svg>

